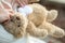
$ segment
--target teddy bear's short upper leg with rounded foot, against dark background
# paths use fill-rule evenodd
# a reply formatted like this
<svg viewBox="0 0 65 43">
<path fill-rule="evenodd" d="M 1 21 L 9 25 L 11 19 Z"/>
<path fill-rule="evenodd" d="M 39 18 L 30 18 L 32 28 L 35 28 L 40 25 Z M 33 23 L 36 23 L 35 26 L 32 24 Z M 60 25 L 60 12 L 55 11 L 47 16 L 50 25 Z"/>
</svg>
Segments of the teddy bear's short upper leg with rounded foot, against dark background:
<svg viewBox="0 0 65 43">
<path fill-rule="evenodd" d="M 57 11 L 56 10 L 51 10 L 48 12 L 48 17 L 47 17 L 47 22 L 53 22 L 55 20 L 57 17 Z"/>
</svg>

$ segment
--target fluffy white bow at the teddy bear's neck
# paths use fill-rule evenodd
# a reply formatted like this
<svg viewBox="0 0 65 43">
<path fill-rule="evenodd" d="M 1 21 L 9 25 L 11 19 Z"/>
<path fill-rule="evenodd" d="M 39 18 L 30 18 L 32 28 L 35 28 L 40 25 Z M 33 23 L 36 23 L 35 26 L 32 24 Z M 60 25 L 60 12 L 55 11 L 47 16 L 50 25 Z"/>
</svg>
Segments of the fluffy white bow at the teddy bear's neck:
<svg viewBox="0 0 65 43">
<path fill-rule="evenodd" d="M 29 5 L 25 5 L 24 8 L 18 8 L 20 13 L 24 14 L 24 16 L 32 13 L 32 9 Z"/>
</svg>

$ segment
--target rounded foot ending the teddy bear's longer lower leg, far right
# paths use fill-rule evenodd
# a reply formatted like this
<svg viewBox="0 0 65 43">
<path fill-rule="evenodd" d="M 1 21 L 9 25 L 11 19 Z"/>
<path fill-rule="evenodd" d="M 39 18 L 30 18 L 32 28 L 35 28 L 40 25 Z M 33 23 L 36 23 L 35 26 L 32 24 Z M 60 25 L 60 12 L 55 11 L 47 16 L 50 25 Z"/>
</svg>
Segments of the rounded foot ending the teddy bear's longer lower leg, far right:
<svg viewBox="0 0 65 43">
<path fill-rule="evenodd" d="M 62 28 L 60 28 L 60 27 L 56 27 L 56 26 L 54 26 L 54 27 L 55 27 L 54 28 L 55 31 L 51 35 L 55 37 L 55 38 L 63 38 L 65 35 L 64 30 Z"/>
</svg>

